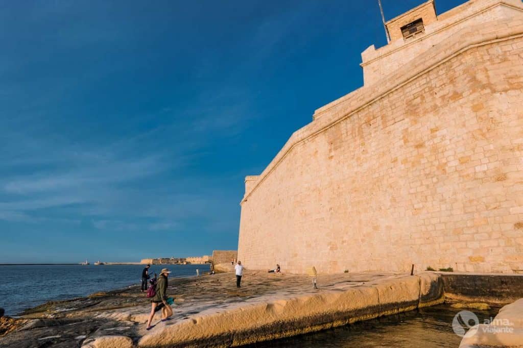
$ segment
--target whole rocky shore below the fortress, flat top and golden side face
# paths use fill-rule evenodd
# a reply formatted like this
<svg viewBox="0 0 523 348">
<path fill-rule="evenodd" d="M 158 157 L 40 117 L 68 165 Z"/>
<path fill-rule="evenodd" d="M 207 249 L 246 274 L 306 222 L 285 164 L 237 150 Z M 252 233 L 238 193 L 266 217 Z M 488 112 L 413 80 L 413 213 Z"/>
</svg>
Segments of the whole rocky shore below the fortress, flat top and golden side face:
<svg viewBox="0 0 523 348">
<path fill-rule="evenodd" d="M 53 301 L 0 318 L 0 347 L 240 346 L 342 326 L 445 301 L 436 273 L 359 273 L 318 277 L 246 271 L 174 278 L 173 319 L 145 330 L 149 299 L 139 286 Z"/>
</svg>

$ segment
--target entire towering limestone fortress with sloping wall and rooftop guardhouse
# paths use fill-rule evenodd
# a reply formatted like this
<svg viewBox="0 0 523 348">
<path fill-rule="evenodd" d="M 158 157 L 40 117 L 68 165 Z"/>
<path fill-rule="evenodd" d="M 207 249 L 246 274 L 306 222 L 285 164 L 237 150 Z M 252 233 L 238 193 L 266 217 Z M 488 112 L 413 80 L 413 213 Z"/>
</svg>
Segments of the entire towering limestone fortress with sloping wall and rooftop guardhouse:
<svg viewBox="0 0 523 348">
<path fill-rule="evenodd" d="M 238 260 L 523 272 L 523 4 L 436 16 L 429 1 L 387 27 L 392 41 L 362 53 L 364 86 L 245 178 Z"/>
</svg>

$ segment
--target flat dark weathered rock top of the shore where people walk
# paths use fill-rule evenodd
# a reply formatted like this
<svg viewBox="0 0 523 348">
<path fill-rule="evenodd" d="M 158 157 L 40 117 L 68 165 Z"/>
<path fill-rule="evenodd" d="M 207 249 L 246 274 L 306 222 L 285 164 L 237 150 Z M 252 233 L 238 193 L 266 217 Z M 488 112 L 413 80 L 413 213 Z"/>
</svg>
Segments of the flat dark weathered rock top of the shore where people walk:
<svg viewBox="0 0 523 348">
<path fill-rule="evenodd" d="M 304 294 L 321 294 L 340 287 L 365 286 L 393 274 L 341 274 L 320 276 L 320 289 L 312 289 L 306 275 L 246 272 L 244 286 L 237 289 L 234 275 L 221 273 L 172 279 L 169 294 L 175 298 L 179 323 L 209 310 L 226 310 L 255 301 L 270 301 Z M 139 286 L 100 292 L 84 298 L 51 301 L 22 312 L 19 318 L 2 318 L 0 346 L 72 347 L 92 344 L 107 335 L 128 337 L 132 345 L 147 333 L 144 322 L 150 302 Z M 156 321 L 160 321 L 157 316 Z M 162 323 L 163 324 L 163 323 Z M 151 333 L 159 331 L 161 325 Z"/>
</svg>

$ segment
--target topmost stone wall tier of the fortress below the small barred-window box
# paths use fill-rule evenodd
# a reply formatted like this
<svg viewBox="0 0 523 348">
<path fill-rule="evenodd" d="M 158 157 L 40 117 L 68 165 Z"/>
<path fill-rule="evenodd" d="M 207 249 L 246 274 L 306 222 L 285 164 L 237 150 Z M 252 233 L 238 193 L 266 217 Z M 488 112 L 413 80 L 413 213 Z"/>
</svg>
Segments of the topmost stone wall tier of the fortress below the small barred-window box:
<svg viewBox="0 0 523 348">
<path fill-rule="evenodd" d="M 378 50 L 371 46 L 363 51 L 361 66 L 365 85 L 378 82 L 383 76 L 396 71 L 413 59 L 423 59 L 423 52 L 456 35 L 464 28 L 493 20 L 508 20 L 510 17 L 520 15 L 523 10 L 523 4 L 519 0 L 502 2 L 482 0 L 469 3 L 465 3 L 469 6 L 451 17 L 444 16 L 443 18 L 446 19 L 440 19 L 438 16 L 438 21 L 426 25 L 425 33 L 419 34 L 416 38 L 407 40 L 401 37 L 396 40 L 393 38 L 394 41 Z M 427 4 L 429 5 L 431 6 Z"/>
</svg>

